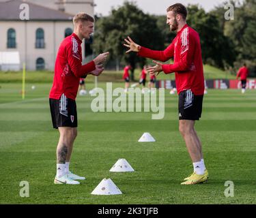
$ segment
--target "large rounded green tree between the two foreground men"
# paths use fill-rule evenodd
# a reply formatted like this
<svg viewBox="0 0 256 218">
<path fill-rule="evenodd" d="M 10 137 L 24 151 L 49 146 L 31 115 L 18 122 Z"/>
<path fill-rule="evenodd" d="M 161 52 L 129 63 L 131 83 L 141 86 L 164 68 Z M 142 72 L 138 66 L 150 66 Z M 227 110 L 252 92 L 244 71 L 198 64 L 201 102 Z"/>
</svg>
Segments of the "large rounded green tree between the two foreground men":
<svg viewBox="0 0 256 218">
<path fill-rule="evenodd" d="M 131 79 L 134 80 L 134 69 L 137 63 L 142 67 L 145 59 L 136 53 L 126 54 L 123 46 L 127 36 L 148 48 L 162 49 L 163 37 L 156 25 L 156 18 L 144 14 L 135 3 L 125 2 L 117 10 L 113 9 L 110 16 L 101 17 L 96 22 L 94 34 L 95 52 L 110 52 L 110 59 L 129 63 L 132 66 Z"/>
</svg>

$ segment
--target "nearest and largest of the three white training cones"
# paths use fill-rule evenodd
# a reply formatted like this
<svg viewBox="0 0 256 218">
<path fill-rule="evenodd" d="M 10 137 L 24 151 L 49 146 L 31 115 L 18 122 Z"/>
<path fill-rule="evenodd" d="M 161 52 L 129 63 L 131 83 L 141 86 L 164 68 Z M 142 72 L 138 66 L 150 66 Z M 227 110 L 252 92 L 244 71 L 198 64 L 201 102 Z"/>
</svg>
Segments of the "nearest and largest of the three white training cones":
<svg viewBox="0 0 256 218">
<path fill-rule="evenodd" d="M 111 178 L 103 178 L 100 184 L 91 192 L 92 195 L 109 196 L 109 195 L 121 195 L 122 192 L 113 183 Z"/>
</svg>

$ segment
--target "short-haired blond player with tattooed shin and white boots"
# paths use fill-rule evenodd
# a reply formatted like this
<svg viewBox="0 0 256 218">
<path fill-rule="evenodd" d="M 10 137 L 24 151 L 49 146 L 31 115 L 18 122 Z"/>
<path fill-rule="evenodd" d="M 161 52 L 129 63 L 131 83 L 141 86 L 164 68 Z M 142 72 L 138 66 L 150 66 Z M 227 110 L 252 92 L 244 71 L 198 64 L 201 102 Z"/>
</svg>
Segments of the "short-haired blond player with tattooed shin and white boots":
<svg viewBox="0 0 256 218">
<path fill-rule="evenodd" d="M 53 87 L 49 100 L 53 127 L 59 129 L 57 144 L 57 174 L 55 184 L 79 184 L 76 180 L 85 177 L 72 174 L 69 170 L 73 143 L 77 135 L 76 95 L 79 80 L 87 74 L 99 76 L 102 63 L 106 61 L 109 52 L 98 55 L 93 61 L 82 65 L 81 43 L 89 39 L 94 31 L 94 18 L 85 14 L 76 14 L 73 18 L 74 33 L 66 37 L 59 46 L 55 62 Z"/>
</svg>

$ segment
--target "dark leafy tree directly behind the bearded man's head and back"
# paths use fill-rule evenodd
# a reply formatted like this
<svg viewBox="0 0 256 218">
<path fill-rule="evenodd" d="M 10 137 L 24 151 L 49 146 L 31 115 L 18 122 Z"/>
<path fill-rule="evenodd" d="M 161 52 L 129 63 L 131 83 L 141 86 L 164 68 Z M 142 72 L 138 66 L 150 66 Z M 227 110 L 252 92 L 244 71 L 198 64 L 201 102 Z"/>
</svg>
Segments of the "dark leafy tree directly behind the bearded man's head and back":
<svg viewBox="0 0 256 218">
<path fill-rule="evenodd" d="M 200 35 L 203 62 L 221 68 L 233 65 L 236 57 L 233 44 L 224 35 L 218 18 L 199 5 L 188 5 L 187 9 L 188 25 Z"/>
</svg>

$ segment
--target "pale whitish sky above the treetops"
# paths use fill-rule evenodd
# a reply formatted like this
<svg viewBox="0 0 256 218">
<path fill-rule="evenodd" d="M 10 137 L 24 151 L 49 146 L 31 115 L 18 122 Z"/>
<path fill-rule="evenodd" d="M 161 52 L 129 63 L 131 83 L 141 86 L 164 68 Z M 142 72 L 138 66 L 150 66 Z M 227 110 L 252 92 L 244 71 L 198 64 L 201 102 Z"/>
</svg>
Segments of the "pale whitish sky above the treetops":
<svg viewBox="0 0 256 218">
<path fill-rule="evenodd" d="M 106 16 L 111 11 L 111 7 L 118 7 L 124 3 L 125 0 L 94 0 L 96 3 L 95 13 Z M 225 2 L 225 0 L 135 0 L 137 5 L 143 12 L 150 14 L 165 14 L 167 7 L 173 3 L 182 3 L 184 5 L 199 3 L 207 12 L 212 10 L 214 6 Z"/>
</svg>

